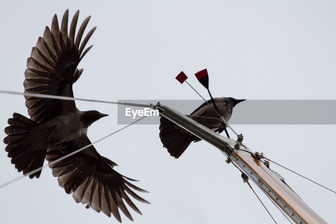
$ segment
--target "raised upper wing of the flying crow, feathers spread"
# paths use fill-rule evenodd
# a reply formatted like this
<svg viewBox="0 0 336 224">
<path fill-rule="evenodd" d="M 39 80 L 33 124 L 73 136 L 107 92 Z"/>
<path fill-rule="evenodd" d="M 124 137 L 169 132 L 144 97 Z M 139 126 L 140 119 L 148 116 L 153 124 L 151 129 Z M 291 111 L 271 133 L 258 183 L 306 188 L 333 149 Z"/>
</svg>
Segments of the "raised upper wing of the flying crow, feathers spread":
<svg viewBox="0 0 336 224">
<path fill-rule="evenodd" d="M 72 85 L 83 72 L 83 69 L 78 70 L 77 66 L 92 47 L 89 46 L 84 50 L 86 43 L 96 29 L 96 27 L 92 28 L 80 45 L 90 16 L 80 26 L 75 39 L 78 14 L 79 11 L 72 19 L 69 35 L 68 10 L 64 13 L 60 30 L 56 14 L 52 19 L 51 31 L 48 27 L 45 28 L 43 38 L 39 37 L 36 47 L 33 47 L 30 58 L 27 59 L 25 93 L 74 97 Z M 28 96 L 25 98 L 28 114 L 32 120 L 38 123 L 76 110 L 75 101 Z"/>
</svg>

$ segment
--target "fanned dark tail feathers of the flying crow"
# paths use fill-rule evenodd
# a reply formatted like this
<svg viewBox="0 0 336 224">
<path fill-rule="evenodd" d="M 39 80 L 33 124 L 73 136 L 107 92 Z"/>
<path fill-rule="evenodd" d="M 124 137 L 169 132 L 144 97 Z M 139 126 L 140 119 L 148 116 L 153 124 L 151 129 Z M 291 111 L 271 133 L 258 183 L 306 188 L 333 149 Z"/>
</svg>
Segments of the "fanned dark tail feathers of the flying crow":
<svg viewBox="0 0 336 224">
<path fill-rule="evenodd" d="M 10 126 L 5 128 L 5 133 L 8 135 L 3 142 L 7 145 L 5 151 L 8 152 L 8 157 L 12 158 L 11 163 L 15 164 L 15 169 L 18 172 L 23 171 L 27 174 L 43 165 L 46 149 L 39 151 L 27 151 L 27 145 L 23 144 L 29 132 L 38 123 L 35 121 L 14 113 L 13 118 L 8 119 Z M 29 178 L 39 178 L 41 171 L 29 175 Z"/>
</svg>

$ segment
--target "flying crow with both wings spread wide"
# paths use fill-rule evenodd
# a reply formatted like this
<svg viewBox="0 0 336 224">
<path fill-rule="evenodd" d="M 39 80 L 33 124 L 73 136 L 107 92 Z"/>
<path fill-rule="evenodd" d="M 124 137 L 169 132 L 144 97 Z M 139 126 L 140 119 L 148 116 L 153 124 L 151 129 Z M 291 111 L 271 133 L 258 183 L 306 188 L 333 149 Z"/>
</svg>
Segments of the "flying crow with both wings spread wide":
<svg viewBox="0 0 336 224">
<path fill-rule="evenodd" d="M 86 43 L 96 29 L 91 29 L 80 44 L 89 22 L 87 17 L 75 38 L 79 11 L 73 17 L 68 36 L 68 10 L 64 13 L 59 30 L 57 16 L 51 24 L 51 31 L 45 28 L 43 38 L 39 37 L 27 61 L 24 81 L 25 92 L 74 97 L 72 85 L 82 74 L 77 66 L 92 47 L 84 50 Z M 27 174 L 43 165 L 44 158 L 54 161 L 79 148 L 91 144 L 86 136 L 87 128 L 107 114 L 98 111 L 80 111 L 74 101 L 26 97 L 26 106 L 31 118 L 14 113 L 5 128 L 8 135 L 3 141 L 6 152 L 18 172 Z M 87 203 L 86 208 L 111 216 L 121 222 L 118 208 L 132 220 L 124 202 L 141 214 L 126 192 L 135 199 L 149 203 L 136 195 L 129 187 L 146 192 L 129 183 L 123 175 L 113 170 L 111 160 L 101 156 L 91 146 L 64 160 L 51 165 L 52 174 L 68 194 L 73 193 L 75 201 Z M 41 171 L 29 177 L 39 178 Z"/>
</svg>

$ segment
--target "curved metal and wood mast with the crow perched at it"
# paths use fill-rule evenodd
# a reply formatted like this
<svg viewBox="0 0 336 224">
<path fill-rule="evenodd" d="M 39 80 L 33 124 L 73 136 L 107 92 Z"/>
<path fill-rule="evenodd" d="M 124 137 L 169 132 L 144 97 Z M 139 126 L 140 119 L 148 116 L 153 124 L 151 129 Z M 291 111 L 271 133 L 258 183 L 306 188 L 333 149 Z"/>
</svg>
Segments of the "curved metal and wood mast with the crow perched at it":
<svg viewBox="0 0 336 224">
<path fill-rule="evenodd" d="M 280 179 L 280 175 L 266 166 L 267 161 L 262 154 L 253 153 L 242 143 L 242 135 L 238 135 L 235 141 L 213 132 L 168 106 L 157 104 L 154 108 L 162 116 L 218 148 L 228 158 L 228 163 L 231 161 L 295 223 L 327 223 Z"/>
</svg>

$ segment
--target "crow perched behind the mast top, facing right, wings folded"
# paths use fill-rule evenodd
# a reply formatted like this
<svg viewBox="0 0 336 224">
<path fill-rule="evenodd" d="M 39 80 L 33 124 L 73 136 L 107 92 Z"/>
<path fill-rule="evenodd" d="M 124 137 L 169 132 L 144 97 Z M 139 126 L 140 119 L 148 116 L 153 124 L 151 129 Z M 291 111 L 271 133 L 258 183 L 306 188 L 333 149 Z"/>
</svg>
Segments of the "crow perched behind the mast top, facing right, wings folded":
<svg viewBox="0 0 336 224">
<path fill-rule="evenodd" d="M 218 112 L 222 115 L 227 122 L 232 115 L 232 109 L 240 102 L 244 100 L 236 100 L 232 97 L 214 98 L 215 104 L 218 107 Z M 213 107 L 212 100 L 208 103 Z M 215 117 L 218 118 L 217 113 L 210 107 L 210 105 L 204 102 L 190 115 L 203 116 L 203 117 Z M 224 130 L 224 126 L 218 119 L 190 117 L 191 119 L 203 124 L 210 128 L 214 132 L 221 133 Z M 194 141 L 198 142 L 201 139 L 171 122 L 165 117 L 160 119 L 160 139 L 163 147 L 167 148 L 171 156 L 178 158 L 186 150 L 189 144 Z"/>
</svg>

